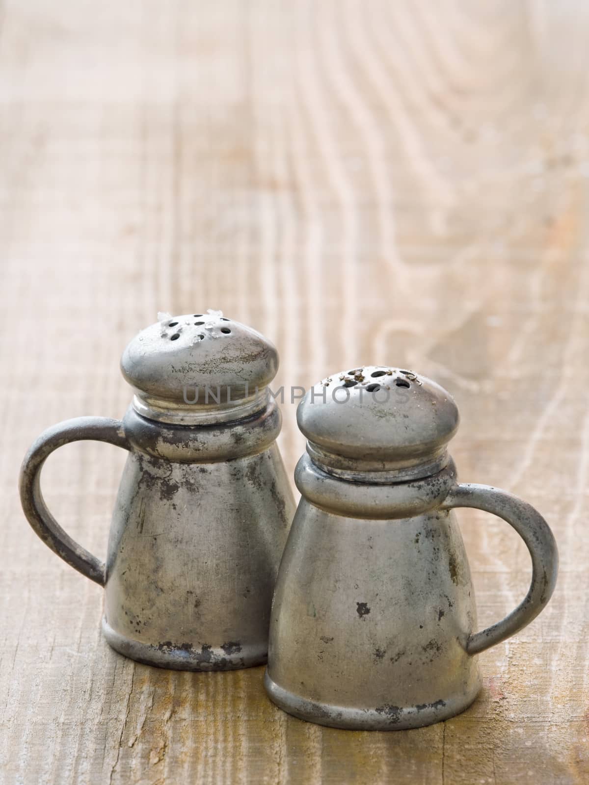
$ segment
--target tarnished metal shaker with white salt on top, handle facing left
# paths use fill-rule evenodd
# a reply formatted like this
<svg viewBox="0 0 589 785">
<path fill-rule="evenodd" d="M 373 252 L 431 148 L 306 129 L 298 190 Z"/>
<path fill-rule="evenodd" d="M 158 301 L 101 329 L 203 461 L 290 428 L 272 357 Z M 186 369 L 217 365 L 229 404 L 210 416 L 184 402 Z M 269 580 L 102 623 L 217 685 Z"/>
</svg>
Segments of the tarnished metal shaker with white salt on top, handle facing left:
<svg viewBox="0 0 589 785">
<path fill-rule="evenodd" d="M 51 550 L 104 586 L 104 637 L 121 654 L 179 670 L 265 663 L 276 571 L 294 513 L 269 396 L 278 355 L 221 312 L 163 319 L 123 352 L 134 388 L 123 421 L 82 417 L 32 445 L 20 497 Z M 62 444 L 129 451 L 106 564 L 60 528 L 39 475 Z"/>
</svg>

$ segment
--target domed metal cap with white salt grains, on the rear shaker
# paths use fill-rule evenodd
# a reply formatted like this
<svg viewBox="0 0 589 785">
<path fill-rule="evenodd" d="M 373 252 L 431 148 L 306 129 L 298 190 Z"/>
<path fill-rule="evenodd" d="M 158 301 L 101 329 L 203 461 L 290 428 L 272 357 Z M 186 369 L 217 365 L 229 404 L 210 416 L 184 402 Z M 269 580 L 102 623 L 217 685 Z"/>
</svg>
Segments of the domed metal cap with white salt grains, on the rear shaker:
<svg viewBox="0 0 589 785">
<path fill-rule="evenodd" d="M 265 407 L 274 345 L 221 311 L 159 314 L 126 346 L 121 371 L 144 417 L 182 425 L 228 422 Z"/>
</svg>

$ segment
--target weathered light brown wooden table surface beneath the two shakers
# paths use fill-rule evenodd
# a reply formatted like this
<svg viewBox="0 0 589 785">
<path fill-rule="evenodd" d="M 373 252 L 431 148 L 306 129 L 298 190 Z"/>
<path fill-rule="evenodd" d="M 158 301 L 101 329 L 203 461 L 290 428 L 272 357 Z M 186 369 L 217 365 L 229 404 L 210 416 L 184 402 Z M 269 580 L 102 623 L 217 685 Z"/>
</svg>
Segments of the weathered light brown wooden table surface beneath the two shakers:
<svg viewBox="0 0 589 785">
<path fill-rule="evenodd" d="M 589 782 L 587 3 L 3 0 L 0 20 L 2 785 Z M 320 728 L 269 703 L 262 668 L 124 659 L 101 589 L 27 526 L 31 440 L 121 416 L 126 342 L 207 308 L 276 342 L 278 385 L 360 363 L 436 378 L 461 479 L 554 528 L 554 598 L 481 655 L 461 716 Z M 101 556 L 123 461 L 90 443 L 44 471 Z M 502 521 L 459 520 L 488 625 L 529 557 Z"/>
</svg>

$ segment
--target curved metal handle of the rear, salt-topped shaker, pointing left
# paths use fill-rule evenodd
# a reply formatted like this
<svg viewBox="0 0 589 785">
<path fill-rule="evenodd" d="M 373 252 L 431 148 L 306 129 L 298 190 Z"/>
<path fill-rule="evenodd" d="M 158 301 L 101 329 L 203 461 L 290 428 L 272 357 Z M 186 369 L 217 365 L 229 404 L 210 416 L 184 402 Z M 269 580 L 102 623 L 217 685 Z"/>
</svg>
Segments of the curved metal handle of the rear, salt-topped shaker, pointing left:
<svg viewBox="0 0 589 785">
<path fill-rule="evenodd" d="M 53 553 L 86 578 L 104 586 L 104 563 L 87 551 L 60 527 L 47 509 L 41 493 L 40 474 L 46 458 L 57 447 L 80 440 L 96 440 L 128 450 L 123 423 L 106 417 L 76 417 L 43 431 L 24 456 L 20 467 L 20 503 L 28 522 Z"/>
</svg>

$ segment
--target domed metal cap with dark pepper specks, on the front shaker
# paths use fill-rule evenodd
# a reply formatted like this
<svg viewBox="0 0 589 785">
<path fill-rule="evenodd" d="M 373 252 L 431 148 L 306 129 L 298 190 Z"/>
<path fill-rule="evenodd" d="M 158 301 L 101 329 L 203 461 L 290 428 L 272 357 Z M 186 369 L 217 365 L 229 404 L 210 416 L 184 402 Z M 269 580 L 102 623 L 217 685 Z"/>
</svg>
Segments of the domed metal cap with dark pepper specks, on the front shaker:
<svg viewBox="0 0 589 785">
<path fill-rule="evenodd" d="M 459 423 L 449 392 L 413 371 L 364 366 L 323 379 L 297 410 L 313 462 L 330 473 L 371 472 L 370 481 L 427 476 L 448 462 Z"/>
</svg>

